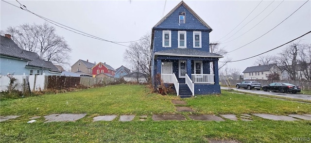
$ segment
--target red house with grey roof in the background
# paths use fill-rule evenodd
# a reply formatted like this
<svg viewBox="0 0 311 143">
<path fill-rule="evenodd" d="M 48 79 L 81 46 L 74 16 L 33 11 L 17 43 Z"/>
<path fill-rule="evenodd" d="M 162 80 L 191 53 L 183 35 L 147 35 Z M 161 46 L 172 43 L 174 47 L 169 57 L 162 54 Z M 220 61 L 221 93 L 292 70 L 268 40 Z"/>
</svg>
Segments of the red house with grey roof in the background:
<svg viewBox="0 0 311 143">
<path fill-rule="evenodd" d="M 108 75 L 111 75 L 110 77 L 114 77 L 115 76 L 115 72 L 116 70 L 111 67 L 110 65 L 106 64 L 106 63 L 98 63 L 96 65 L 94 65 L 92 67 L 92 75 L 93 77 L 96 77 L 96 75 L 100 74 L 100 73 L 105 73 Z"/>
</svg>

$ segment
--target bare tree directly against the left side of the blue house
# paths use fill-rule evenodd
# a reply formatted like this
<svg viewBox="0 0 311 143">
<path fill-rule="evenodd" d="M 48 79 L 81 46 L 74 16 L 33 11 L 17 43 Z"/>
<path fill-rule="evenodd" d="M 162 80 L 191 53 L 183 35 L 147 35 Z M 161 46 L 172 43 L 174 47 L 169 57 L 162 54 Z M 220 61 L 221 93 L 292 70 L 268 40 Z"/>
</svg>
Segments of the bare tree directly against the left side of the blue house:
<svg viewBox="0 0 311 143">
<path fill-rule="evenodd" d="M 137 74 L 139 72 L 145 74 L 146 80 L 151 81 L 151 34 L 145 34 L 141 37 L 142 40 L 133 42 L 129 48 L 125 50 L 124 61 L 135 68 Z M 138 75 L 137 75 L 138 81 Z"/>
</svg>

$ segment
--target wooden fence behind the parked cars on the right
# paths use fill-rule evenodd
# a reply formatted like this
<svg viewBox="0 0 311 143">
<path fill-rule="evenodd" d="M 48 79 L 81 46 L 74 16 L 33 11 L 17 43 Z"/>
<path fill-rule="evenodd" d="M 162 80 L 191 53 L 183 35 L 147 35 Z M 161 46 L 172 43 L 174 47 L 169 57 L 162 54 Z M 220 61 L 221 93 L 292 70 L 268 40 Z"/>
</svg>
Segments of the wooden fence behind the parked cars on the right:
<svg viewBox="0 0 311 143">
<path fill-rule="evenodd" d="M 300 88 L 302 90 L 308 90 L 311 91 L 311 81 L 301 81 L 301 80 L 264 80 L 264 79 L 252 79 L 254 81 L 259 81 L 261 83 L 261 85 L 267 85 L 270 84 L 272 82 L 285 82 L 285 83 L 291 83 L 297 86 L 300 86 Z M 229 79 L 227 81 L 225 81 L 224 79 L 220 80 L 219 84 L 220 85 L 225 85 L 227 86 L 227 83 L 231 84 L 231 86 L 235 86 L 237 83 L 242 82 L 243 80 L 233 80 L 233 79 Z"/>
</svg>

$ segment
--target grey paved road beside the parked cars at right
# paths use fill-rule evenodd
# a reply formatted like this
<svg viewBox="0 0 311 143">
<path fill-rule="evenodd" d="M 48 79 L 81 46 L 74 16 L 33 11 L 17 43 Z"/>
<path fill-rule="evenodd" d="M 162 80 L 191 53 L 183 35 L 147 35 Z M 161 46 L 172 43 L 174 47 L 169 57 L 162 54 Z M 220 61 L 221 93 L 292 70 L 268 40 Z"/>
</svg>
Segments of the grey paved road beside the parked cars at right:
<svg viewBox="0 0 311 143">
<path fill-rule="evenodd" d="M 221 89 L 229 89 L 228 87 L 221 87 Z M 237 88 L 231 88 L 235 91 L 241 91 L 241 92 L 247 92 L 247 93 L 253 93 L 253 94 L 259 94 L 259 95 L 275 95 L 275 96 L 281 96 L 281 97 L 288 97 L 288 98 L 295 98 L 295 99 L 303 99 L 303 100 L 311 100 L 311 95 L 301 95 L 301 94 L 286 94 L 286 93 L 274 93 L 274 92 L 264 92 L 264 91 L 258 91 L 258 90 L 247 90 L 247 89 L 237 89 Z"/>
</svg>

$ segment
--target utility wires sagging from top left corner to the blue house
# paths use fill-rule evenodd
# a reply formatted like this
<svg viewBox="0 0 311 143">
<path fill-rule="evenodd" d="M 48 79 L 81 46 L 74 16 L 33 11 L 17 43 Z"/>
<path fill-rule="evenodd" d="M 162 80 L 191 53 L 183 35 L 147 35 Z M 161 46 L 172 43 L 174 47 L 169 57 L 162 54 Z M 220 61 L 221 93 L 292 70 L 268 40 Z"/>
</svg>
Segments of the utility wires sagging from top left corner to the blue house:
<svg viewBox="0 0 311 143">
<path fill-rule="evenodd" d="M 106 40 L 106 39 L 103 39 L 103 38 L 100 38 L 100 37 L 97 37 L 97 36 L 88 34 L 88 33 L 86 33 L 86 32 L 82 32 L 82 31 L 76 30 L 76 29 L 71 28 L 71 27 L 69 27 L 69 26 L 63 25 L 63 24 L 61 24 L 61 23 L 58 23 L 58 22 L 56 22 L 56 21 L 53 21 L 53 20 L 51 20 L 51 19 L 49 19 L 49 18 L 46 18 L 46 17 L 44 17 L 44 16 L 37 15 L 37 14 L 35 14 L 34 12 L 28 10 L 28 9 L 26 8 L 26 6 L 25 6 L 25 5 L 22 5 L 18 0 L 16 0 L 16 1 L 20 4 L 20 7 L 18 7 L 17 5 L 14 5 L 14 4 L 12 4 L 12 3 L 9 3 L 9 2 L 7 2 L 7 1 L 4 1 L 4 0 L 1 0 L 1 1 L 6 2 L 6 3 L 8 3 L 8 4 L 12 5 L 12 6 L 17 7 L 17 8 L 21 8 L 22 10 L 25 10 L 26 12 L 29 12 L 29 13 L 31 13 L 31 14 L 34 14 L 35 16 L 38 16 L 38 17 L 44 19 L 45 21 L 47 21 L 47 22 L 49 22 L 49 23 L 51 23 L 51 24 L 53 24 L 53 25 L 55 25 L 55 26 L 57 26 L 57 27 L 63 28 L 63 29 L 68 30 L 68 31 L 70 31 L 70 32 L 74 32 L 74 33 L 77 33 L 77 34 L 80 34 L 80 35 L 83 35 L 83 36 L 86 36 L 86 37 L 94 38 L 94 39 L 97 39 L 97 40 L 102 40 L 102 41 L 106 41 L 106 42 L 111 42 L 111 43 L 114 43 L 114 44 L 118 44 L 118 43 L 131 43 L 131 42 L 136 42 L 136 41 L 140 41 L 140 40 L 143 40 L 143 39 L 146 39 L 146 38 L 149 38 L 149 37 L 150 37 L 150 35 L 149 35 L 149 36 L 146 37 L 146 38 L 138 39 L 138 40 L 135 40 L 135 41 L 127 41 L 127 42 L 109 41 L 109 40 Z M 54 23 L 53 23 L 53 22 L 54 22 Z M 56 24 L 55 24 L 55 23 L 56 23 Z M 62 25 L 62 26 L 59 26 L 59 25 L 57 25 L 57 24 Z M 67 27 L 67 28 L 65 28 L 65 27 Z M 70 30 L 70 29 L 71 29 L 71 30 Z M 77 32 L 76 32 L 76 31 L 77 31 Z M 81 33 L 79 33 L 79 32 L 81 32 Z M 125 45 L 122 45 L 122 44 L 118 44 L 118 45 L 125 46 Z M 125 46 L 125 47 L 127 47 L 127 46 Z"/>
</svg>

